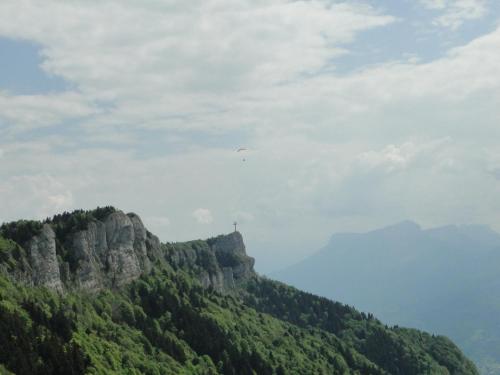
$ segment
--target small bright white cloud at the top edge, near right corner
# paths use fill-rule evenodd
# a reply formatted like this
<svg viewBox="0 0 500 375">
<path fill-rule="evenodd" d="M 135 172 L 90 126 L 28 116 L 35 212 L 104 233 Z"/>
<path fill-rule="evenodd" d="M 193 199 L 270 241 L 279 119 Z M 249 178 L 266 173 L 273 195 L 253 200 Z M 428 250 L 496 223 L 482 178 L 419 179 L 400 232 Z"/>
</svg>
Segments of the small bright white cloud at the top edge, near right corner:
<svg viewBox="0 0 500 375">
<path fill-rule="evenodd" d="M 488 12 L 487 0 L 420 0 L 431 10 L 440 11 L 433 23 L 437 26 L 456 30 L 466 21 L 484 17 Z"/>
</svg>

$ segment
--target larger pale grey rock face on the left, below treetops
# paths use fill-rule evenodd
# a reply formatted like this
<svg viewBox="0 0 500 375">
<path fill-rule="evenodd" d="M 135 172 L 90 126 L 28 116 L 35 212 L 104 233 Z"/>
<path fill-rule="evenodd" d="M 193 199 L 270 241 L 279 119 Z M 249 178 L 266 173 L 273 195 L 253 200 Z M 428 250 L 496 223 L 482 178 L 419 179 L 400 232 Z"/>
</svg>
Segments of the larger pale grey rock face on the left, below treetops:
<svg viewBox="0 0 500 375">
<path fill-rule="evenodd" d="M 87 229 L 56 239 L 45 224 L 26 245 L 30 277 L 36 286 L 64 291 L 98 291 L 126 284 L 151 271 L 161 256 L 160 241 L 149 233 L 136 214 L 116 211 Z"/>
</svg>

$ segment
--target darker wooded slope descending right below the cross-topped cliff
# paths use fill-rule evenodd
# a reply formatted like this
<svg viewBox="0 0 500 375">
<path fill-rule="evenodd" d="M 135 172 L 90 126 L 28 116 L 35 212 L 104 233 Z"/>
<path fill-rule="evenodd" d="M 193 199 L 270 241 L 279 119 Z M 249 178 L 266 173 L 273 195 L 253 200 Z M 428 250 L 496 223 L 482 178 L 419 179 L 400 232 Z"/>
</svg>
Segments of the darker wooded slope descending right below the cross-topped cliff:
<svg viewBox="0 0 500 375">
<path fill-rule="evenodd" d="M 334 333 L 391 374 L 471 374 L 475 366 L 447 338 L 418 330 L 389 328 L 371 314 L 265 278 L 250 280 L 242 293 L 258 311 L 299 327 Z"/>
</svg>

